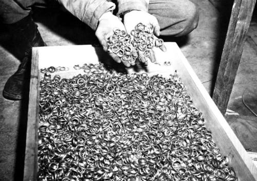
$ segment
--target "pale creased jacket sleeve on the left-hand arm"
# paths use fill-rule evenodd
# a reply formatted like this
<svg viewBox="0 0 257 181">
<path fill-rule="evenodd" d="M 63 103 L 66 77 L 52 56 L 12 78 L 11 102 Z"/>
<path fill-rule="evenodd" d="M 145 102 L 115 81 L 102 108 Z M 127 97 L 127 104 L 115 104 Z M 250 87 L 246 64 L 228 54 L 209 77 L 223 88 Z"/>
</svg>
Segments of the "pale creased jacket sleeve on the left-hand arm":
<svg viewBox="0 0 257 181">
<path fill-rule="evenodd" d="M 71 14 L 96 30 L 103 13 L 115 9 L 115 4 L 106 0 L 57 0 Z"/>
</svg>

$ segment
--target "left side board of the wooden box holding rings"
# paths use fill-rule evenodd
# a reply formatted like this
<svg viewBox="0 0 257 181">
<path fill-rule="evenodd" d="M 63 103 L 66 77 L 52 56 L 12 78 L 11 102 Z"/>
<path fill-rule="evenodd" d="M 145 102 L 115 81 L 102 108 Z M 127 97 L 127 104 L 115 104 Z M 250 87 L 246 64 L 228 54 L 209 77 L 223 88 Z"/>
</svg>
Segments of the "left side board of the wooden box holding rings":
<svg viewBox="0 0 257 181">
<path fill-rule="evenodd" d="M 26 135 L 26 149 L 24 162 L 23 180 L 36 180 L 36 168 L 38 168 L 38 115 L 39 115 L 39 95 L 38 95 L 38 50 L 32 49 L 28 122 Z"/>
</svg>

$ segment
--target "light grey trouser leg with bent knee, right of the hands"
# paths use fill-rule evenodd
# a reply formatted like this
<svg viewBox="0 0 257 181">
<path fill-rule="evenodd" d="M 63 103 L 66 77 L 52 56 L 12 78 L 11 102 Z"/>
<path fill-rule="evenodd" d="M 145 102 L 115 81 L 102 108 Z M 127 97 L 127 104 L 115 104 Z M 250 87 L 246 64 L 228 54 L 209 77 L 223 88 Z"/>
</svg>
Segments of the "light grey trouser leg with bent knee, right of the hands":
<svg viewBox="0 0 257 181">
<path fill-rule="evenodd" d="M 199 20 L 198 10 L 189 0 L 150 0 L 149 13 L 157 18 L 161 35 L 175 37 L 190 33 Z"/>
</svg>

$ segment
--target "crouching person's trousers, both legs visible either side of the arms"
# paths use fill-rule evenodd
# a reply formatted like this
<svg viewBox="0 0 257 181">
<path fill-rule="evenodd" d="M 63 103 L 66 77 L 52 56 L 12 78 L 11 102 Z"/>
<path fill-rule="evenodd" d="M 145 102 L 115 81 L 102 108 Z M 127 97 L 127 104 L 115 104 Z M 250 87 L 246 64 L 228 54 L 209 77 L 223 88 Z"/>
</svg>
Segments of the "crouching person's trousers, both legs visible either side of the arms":
<svg viewBox="0 0 257 181">
<path fill-rule="evenodd" d="M 22 20 L 35 3 L 45 0 L 0 0 L 0 17 L 4 24 Z M 189 0 L 150 0 L 149 13 L 160 25 L 161 35 L 180 36 L 191 32 L 198 24 L 198 11 Z"/>
</svg>

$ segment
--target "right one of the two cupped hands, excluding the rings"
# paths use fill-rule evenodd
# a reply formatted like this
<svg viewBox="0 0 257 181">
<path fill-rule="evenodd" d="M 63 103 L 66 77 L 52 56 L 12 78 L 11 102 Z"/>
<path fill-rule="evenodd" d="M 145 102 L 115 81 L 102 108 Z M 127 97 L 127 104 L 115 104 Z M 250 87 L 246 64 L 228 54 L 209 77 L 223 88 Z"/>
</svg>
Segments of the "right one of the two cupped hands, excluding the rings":
<svg viewBox="0 0 257 181">
<path fill-rule="evenodd" d="M 143 25 L 152 25 L 154 28 L 154 34 L 159 37 L 160 35 L 160 26 L 155 16 L 152 14 L 149 14 L 145 11 L 137 11 L 133 10 L 130 12 L 127 12 L 124 15 L 123 24 L 126 28 L 127 33 L 131 34 L 131 31 L 135 29 L 136 25 L 142 23 Z M 156 37 L 155 37 L 156 38 Z M 156 38 L 157 39 L 157 38 Z M 166 51 L 166 47 L 164 44 L 159 47 L 162 51 Z M 155 56 L 153 50 L 151 51 L 150 60 L 151 62 L 155 62 Z M 143 55 L 142 51 L 139 51 L 139 57 L 140 55 Z M 144 57 L 141 57 L 141 62 L 146 62 L 146 59 Z"/>
</svg>

